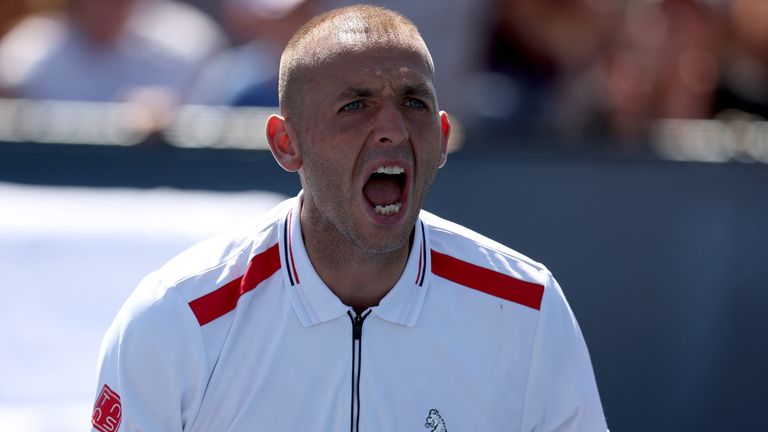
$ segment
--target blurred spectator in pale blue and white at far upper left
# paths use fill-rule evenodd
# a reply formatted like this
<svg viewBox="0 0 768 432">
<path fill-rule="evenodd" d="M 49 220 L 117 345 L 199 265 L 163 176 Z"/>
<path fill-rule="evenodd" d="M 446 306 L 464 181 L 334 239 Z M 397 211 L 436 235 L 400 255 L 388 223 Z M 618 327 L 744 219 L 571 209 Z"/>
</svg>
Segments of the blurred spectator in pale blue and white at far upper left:
<svg viewBox="0 0 768 432">
<path fill-rule="evenodd" d="M 171 0 L 67 0 L 0 41 L 0 86 L 29 99 L 167 107 L 224 43 L 212 20 Z"/>
</svg>

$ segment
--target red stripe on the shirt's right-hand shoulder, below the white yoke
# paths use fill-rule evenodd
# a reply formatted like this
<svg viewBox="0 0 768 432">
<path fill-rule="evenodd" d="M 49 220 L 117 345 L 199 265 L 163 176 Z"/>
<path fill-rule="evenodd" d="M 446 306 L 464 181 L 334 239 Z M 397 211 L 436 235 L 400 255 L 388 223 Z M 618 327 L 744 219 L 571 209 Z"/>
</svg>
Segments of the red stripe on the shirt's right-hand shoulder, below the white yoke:
<svg viewBox="0 0 768 432">
<path fill-rule="evenodd" d="M 435 250 L 431 251 L 432 273 L 459 285 L 539 310 L 544 286 L 515 279 Z"/>
</svg>

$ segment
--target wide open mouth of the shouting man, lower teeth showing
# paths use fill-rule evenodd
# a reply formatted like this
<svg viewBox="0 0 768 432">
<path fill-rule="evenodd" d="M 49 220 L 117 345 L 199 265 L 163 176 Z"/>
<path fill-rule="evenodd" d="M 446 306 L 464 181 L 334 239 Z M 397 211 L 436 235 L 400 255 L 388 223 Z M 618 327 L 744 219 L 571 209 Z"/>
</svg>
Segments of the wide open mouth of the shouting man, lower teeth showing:
<svg viewBox="0 0 768 432">
<path fill-rule="evenodd" d="M 403 206 L 405 169 L 401 166 L 380 166 L 363 185 L 363 195 L 376 214 L 394 216 Z"/>
</svg>

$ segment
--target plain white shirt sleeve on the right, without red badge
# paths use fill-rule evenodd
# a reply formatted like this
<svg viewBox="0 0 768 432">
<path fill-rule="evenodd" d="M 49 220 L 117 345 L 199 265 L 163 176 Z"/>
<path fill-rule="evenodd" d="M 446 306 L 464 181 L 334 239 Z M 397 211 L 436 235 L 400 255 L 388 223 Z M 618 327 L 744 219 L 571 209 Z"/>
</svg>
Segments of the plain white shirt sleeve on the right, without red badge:
<svg viewBox="0 0 768 432">
<path fill-rule="evenodd" d="M 605 432 L 605 416 L 584 337 L 551 275 L 540 313 L 521 430 Z"/>
</svg>

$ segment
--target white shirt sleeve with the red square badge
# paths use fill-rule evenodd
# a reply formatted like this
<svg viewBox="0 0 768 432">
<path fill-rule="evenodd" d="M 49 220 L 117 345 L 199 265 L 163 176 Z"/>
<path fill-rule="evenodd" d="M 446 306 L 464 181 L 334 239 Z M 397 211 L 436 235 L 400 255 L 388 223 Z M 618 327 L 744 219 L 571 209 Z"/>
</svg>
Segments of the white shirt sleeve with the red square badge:
<svg viewBox="0 0 768 432">
<path fill-rule="evenodd" d="M 188 430 L 207 360 L 200 326 L 181 296 L 142 281 L 104 337 L 98 375 L 92 432 Z"/>
</svg>

